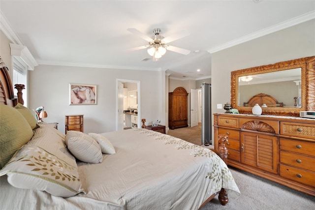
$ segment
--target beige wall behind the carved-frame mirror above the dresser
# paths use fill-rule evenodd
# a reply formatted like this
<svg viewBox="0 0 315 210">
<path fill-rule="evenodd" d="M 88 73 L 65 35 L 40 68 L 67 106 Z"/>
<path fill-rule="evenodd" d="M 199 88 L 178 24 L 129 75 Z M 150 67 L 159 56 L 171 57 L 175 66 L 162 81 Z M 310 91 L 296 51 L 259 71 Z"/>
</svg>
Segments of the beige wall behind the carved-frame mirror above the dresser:
<svg viewBox="0 0 315 210">
<path fill-rule="evenodd" d="M 217 104 L 230 102 L 230 73 L 296 58 L 315 55 L 315 20 L 238 44 L 211 55 L 212 112 L 222 113 Z"/>
</svg>

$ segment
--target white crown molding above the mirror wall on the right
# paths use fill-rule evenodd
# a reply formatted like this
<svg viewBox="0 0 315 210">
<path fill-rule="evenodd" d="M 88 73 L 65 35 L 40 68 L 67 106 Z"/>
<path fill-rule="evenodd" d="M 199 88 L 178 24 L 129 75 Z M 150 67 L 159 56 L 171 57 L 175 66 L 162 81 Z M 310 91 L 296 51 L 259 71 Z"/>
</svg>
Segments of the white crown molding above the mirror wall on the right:
<svg viewBox="0 0 315 210">
<path fill-rule="evenodd" d="M 252 33 L 250 35 L 246 35 L 246 36 L 243 36 L 241 38 L 226 42 L 226 43 L 221 44 L 219 46 L 213 47 L 207 51 L 209 53 L 219 52 L 219 51 L 224 50 L 226 48 L 233 47 L 235 45 L 238 45 L 238 44 L 250 41 L 252 39 L 255 39 L 255 38 L 258 38 L 258 37 L 261 37 L 264 35 L 268 35 L 268 34 L 271 34 L 271 33 L 286 29 L 286 28 L 289 28 L 291 26 L 295 26 L 295 25 L 300 24 L 300 23 L 304 23 L 304 22 L 312 20 L 312 19 L 315 19 L 315 10 L 312 12 L 306 13 L 304 15 L 300 15 L 298 17 L 292 18 L 290 20 L 284 21 L 280 24 L 276 24 L 274 26 L 268 27 L 266 29 L 260 30 L 260 31 L 255 32 L 255 33 Z"/>
</svg>

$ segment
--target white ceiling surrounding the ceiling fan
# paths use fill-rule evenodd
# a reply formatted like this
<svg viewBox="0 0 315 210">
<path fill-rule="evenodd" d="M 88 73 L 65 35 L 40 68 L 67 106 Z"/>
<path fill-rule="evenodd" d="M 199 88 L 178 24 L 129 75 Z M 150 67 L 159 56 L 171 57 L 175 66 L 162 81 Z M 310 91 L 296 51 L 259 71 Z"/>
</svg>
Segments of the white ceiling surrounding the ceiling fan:
<svg viewBox="0 0 315 210">
<path fill-rule="evenodd" d="M 6 23 L 38 64 L 204 79 L 211 77 L 212 52 L 314 19 L 315 0 L 1 0 L 0 10 L 1 30 Z M 186 30 L 189 36 L 170 45 L 191 53 L 167 51 L 158 62 L 143 62 L 146 49 L 126 49 L 147 42 L 128 28 L 149 36 L 160 28 L 164 37 Z"/>
</svg>

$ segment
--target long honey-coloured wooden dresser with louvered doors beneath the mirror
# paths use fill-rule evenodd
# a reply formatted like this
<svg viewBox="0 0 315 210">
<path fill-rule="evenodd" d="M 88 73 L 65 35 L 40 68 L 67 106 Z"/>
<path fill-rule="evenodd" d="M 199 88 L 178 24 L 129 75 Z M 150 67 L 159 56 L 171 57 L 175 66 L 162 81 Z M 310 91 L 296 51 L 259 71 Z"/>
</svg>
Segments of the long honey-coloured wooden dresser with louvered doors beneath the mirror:
<svg viewBox="0 0 315 210">
<path fill-rule="evenodd" d="M 226 135 L 227 164 L 315 196 L 315 120 L 214 114 L 215 149 Z"/>
</svg>

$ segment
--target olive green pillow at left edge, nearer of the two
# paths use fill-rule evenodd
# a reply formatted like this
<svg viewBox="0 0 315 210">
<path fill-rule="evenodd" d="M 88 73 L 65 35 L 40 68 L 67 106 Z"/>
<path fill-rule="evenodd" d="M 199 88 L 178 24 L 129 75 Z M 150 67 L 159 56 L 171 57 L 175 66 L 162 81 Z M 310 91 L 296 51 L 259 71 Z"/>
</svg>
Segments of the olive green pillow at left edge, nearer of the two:
<svg viewBox="0 0 315 210">
<path fill-rule="evenodd" d="M 14 107 L 0 105 L 0 169 L 33 137 L 24 116 Z"/>
</svg>

